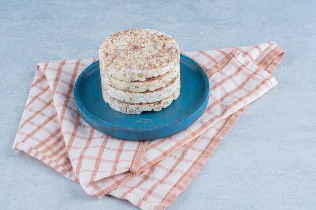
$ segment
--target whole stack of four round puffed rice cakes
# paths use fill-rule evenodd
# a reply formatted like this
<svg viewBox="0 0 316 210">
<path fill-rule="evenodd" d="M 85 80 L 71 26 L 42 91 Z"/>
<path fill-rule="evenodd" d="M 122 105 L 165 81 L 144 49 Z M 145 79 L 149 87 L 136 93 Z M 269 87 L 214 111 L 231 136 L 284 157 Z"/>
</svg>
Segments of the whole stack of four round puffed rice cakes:
<svg viewBox="0 0 316 210">
<path fill-rule="evenodd" d="M 140 114 L 168 107 L 180 94 L 180 52 L 152 29 L 112 34 L 99 48 L 102 94 L 116 111 Z"/>
</svg>

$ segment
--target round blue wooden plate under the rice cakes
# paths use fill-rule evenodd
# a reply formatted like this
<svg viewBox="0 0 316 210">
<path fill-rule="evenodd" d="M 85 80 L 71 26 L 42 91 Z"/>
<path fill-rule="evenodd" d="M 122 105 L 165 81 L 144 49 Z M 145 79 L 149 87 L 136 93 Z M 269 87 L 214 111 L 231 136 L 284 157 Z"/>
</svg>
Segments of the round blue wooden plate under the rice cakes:
<svg viewBox="0 0 316 210">
<path fill-rule="evenodd" d="M 74 96 L 78 112 L 91 127 L 118 138 L 152 140 L 172 135 L 195 122 L 208 102 L 209 84 L 201 66 L 181 54 L 180 73 L 180 96 L 169 107 L 159 112 L 123 114 L 102 98 L 97 60 L 76 81 Z"/>
</svg>

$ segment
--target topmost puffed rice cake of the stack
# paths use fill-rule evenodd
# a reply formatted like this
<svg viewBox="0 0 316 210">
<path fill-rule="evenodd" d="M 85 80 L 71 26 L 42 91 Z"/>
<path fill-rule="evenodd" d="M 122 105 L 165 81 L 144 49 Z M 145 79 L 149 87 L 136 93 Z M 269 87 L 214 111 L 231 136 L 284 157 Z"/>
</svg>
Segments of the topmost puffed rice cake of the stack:
<svg viewBox="0 0 316 210">
<path fill-rule="evenodd" d="M 112 34 L 99 48 L 100 69 L 126 82 L 163 75 L 178 64 L 179 59 L 175 39 L 152 29 L 130 29 Z"/>
</svg>

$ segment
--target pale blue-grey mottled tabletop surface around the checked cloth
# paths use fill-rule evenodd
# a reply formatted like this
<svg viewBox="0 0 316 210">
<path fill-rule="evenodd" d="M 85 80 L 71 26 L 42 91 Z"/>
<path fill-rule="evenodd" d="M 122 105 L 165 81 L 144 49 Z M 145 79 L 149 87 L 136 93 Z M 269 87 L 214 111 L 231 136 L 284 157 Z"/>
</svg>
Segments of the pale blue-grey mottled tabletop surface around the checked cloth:
<svg viewBox="0 0 316 210">
<path fill-rule="evenodd" d="M 279 84 L 249 105 L 169 209 L 315 209 L 314 1 L 0 0 L 0 209 L 137 209 L 89 197 L 43 163 L 12 150 L 40 61 L 97 57 L 129 28 L 172 35 L 182 51 L 275 41 L 286 50 Z"/>
</svg>

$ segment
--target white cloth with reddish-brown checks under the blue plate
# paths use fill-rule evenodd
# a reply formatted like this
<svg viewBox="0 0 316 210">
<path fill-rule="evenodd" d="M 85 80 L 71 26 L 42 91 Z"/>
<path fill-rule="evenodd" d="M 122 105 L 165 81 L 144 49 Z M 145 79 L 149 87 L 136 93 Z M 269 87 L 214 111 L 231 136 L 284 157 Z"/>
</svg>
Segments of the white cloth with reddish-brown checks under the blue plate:
<svg viewBox="0 0 316 210">
<path fill-rule="evenodd" d="M 208 106 L 180 133 L 142 142 L 105 135 L 78 114 L 74 83 L 96 58 L 38 63 L 13 148 L 79 182 L 96 198 L 107 194 L 141 209 L 165 209 L 247 105 L 277 85 L 272 72 L 284 53 L 274 42 L 184 52 L 209 78 Z"/>
</svg>

